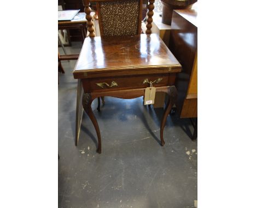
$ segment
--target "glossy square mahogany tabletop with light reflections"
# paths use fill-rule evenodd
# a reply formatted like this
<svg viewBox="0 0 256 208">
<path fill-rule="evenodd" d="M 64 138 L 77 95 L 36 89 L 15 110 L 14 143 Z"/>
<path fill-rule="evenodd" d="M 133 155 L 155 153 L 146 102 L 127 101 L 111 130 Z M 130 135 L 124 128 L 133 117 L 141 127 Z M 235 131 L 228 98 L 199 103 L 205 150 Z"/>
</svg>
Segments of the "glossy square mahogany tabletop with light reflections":
<svg viewBox="0 0 256 208">
<path fill-rule="evenodd" d="M 181 65 L 157 34 L 85 38 L 73 73 L 115 69 L 176 68 Z"/>
</svg>

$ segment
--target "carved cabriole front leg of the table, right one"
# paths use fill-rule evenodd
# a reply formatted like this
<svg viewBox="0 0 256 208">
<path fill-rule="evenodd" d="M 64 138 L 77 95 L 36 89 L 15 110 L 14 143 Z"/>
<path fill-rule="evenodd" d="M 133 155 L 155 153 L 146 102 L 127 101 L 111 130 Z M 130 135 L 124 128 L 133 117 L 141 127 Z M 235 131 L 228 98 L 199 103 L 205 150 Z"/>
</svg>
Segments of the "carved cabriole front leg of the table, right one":
<svg viewBox="0 0 256 208">
<path fill-rule="evenodd" d="M 160 139 L 161 139 L 161 145 L 164 146 L 165 144 L 165 140 L 164 140 L 164 127 L 166 124 L 166 119 L 167 119 L 167 115 L 170 113 L 172 106 L 174 105 L 174 103 L 177 100 L 177 89 L 175 86 L 171 86 L 168 89 L 168 103 L 166 105 L 165 108 L 165 112 L 164 115 L 162 117 L 162 121 L 161 121 L 161 127 L 160 127 Z"/>
</svg>

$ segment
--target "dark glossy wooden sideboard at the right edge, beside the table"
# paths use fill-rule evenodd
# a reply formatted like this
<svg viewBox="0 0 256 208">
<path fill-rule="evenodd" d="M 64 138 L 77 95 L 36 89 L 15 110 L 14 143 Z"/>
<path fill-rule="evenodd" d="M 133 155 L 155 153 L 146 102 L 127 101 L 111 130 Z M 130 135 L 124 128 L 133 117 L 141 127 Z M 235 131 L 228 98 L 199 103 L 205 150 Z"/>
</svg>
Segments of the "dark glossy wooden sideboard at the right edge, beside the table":
<svg viewBox="0 0 256 208">
<path fill-rule="evenodd" d="M 176 77 L 177 110 L 181 118 L 197 117 L 197 3 L 173 10 L 169 48 L 182 65 Z"/>
</svg>

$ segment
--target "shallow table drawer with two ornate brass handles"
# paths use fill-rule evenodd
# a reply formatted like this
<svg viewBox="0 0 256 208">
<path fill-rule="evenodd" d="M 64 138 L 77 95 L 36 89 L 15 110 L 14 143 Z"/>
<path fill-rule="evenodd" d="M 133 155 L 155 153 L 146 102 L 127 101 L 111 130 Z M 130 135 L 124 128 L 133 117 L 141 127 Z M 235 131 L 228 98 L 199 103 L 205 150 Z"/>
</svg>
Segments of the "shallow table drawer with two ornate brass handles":
<svg viewBox="0 0 256 208">
<path fill-rule="evenodd" d="M 135 89 L 135 88 L 146 88 L 153 82 L 154 87 L 162 87 L 168 85 L 169 75 L 158 74 L 158 75 L 138 75 L 138 76 L 123 76 L 123 77 L 106 77 L 102 79 L 90 78 L 85 83 L 86 91 L 97 91 L 97 90 L 120 90 L 120 89 Z"/>
</svg>

